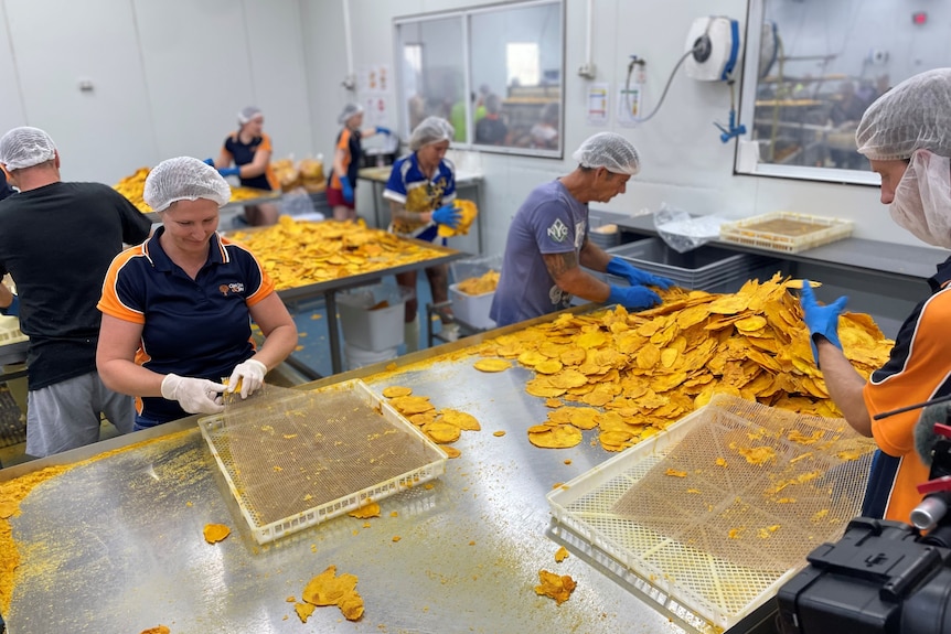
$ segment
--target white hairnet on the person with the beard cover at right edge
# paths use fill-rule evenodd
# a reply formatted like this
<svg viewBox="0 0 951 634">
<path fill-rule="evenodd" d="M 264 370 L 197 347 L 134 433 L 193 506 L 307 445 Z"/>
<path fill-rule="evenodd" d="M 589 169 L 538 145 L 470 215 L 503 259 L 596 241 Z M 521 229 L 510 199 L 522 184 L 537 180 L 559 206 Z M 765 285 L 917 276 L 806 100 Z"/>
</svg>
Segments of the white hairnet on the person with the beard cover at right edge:
<svg viewBox="0 0 951 634">
<path fill-rule="evenodd" d="M 855 130 L 873 161 L 910 159 L 915 150 L 951 157 L 951 68 L 910 77 L 875 100 Z"/>
</svg>

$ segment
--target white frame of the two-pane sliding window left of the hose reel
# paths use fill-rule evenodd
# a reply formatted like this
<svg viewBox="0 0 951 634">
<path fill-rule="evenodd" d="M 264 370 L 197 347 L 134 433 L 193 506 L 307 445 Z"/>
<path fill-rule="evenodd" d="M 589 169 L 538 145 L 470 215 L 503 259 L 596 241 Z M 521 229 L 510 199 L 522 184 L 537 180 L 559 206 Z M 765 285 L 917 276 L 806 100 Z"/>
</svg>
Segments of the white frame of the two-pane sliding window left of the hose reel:
<svg viewBox="0 0 951 634">
<path fill-rule="evenodd" d="M 393 46 L 395 50 L 394 60 L 398 60 L 399 64 L 396 68 L 396 101 L 397 108 L 399 112 L 399 126 L 406 132 L 406 137 L 409 137 L 413 130 L 409 130 L 409 111 L 408 111 L 408 98 L 409 96 L 403 94 L 404 88 L 404 64 L 403 64 L 403 51 L 402 46 L 404 42 L 400 42 L 399 36 L 399 28 L 403 25 L 412 25 L 419 24 L 421 22 L 429 22 L 435 20 L 446 20 L 448 18 L 458 18 L 461 21 L 462 26 L 462 67 L 464 72 L 463 77 L 463 95 L 471 95 L 473 93 L 473 82 L 472 82 L 472 64 L 471 64 L 471 41 L 472 41 L 472 20 L 473 15 L 484 14 L 484 13 L 499 13 L 504 11 L 511 11 L 516 9 L 526 9 L 531 7 L 543 7 L 543 6 L 556 6 L 558 8 L 559 13 L 559 29 L 558 29 L 558 39 L 559 39 L 559 50 L 560 54 L 560 68 L 559 68 L 559 79 L 558 79 L 558 129 L 560 133 L 558 135 L 558 148 L 555 150 L 547 150 L 542 148 L 520 148 L 513 146 L 490 146 L 485 143 L 477 143 L 474 140 L 476 135 L 476 122 L 473 119 L 472 111 L 472 103 L 470 99 L 464 99 L 466 106 L 466 141 L 452 141 L 452 148 L 459 150 L 478 150 L 480 152 L 492 152 L 498 154 L 515 154 L 515 155 L 524 155 L 524 157 L 541 157 L 541 158 L 551 158 L 551 159 L 562 159 L 564 158 L 565 152 L 565 0 L 519 0 L 512 2 L 501 2 L 493 4 L 484 4 L 479 7 L 471 7 L 464 9 L 455 9 L 449 11 L 435 11 L 428 13 L 418 13 L 412 15 L 400 15 L 393 19 Z M 409 42 L 406 42 L 409 43 Z M 421 43 L 417 43 L 421 44 Z M 539 68 L 539 73 L 543 72 Z M 555 103 L 554 100 L 551 103 Z"/>
</svg>

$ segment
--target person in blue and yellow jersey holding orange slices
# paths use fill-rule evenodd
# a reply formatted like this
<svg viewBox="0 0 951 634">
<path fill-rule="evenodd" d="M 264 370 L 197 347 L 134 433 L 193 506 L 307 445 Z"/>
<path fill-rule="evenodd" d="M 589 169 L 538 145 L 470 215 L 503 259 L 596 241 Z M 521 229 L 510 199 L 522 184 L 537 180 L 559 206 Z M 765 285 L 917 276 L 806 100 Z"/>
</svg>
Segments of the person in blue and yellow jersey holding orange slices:
<svg viewBox="0 0 951 634">
<path fill-rule="evenodd" d="M 389 173 L 383 197 L 389 201 L 392 222 L 389 230 L 399 237 L 416 238 L 429 243 L 446 238 L 437 237 L 439 225 L 456 227 L 461 213 L 452 206 L 456 200 L 456 168 L 446 159 L 446 150 L 455 131 L 449 121 L 428 117 L 413 130 L 409 137 L 410 154 L 397 159 Z M 396 276 L 402 287 L 416 289 L 415 270 Z M 446 265 L 426 269 L 435 303 L 449 300 L 449 272 Z M 419 348 L 418 302 L 414 297 L 406 302 L 405 339 L 406 352 Z M 452 313 L 444 311 L 442 339 L 451 341 L 458 336 L 458 324 Z M 431 326 L 430 326 L 431 327 Z"/>
</svg>

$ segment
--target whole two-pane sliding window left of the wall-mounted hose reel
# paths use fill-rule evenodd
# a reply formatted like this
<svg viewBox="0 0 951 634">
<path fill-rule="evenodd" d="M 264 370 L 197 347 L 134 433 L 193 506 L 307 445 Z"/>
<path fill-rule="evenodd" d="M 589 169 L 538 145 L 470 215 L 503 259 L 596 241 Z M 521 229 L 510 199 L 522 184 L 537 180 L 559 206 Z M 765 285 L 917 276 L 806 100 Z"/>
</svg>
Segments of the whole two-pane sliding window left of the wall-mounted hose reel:
<svg viewBox="0 0 951 634">
<path fill-rule="evenodd" d="M 407 131 L 438 115 L 457 147 L 560 157 L 563 14 L 538 0 L 398 20 Z"/>
</svg>

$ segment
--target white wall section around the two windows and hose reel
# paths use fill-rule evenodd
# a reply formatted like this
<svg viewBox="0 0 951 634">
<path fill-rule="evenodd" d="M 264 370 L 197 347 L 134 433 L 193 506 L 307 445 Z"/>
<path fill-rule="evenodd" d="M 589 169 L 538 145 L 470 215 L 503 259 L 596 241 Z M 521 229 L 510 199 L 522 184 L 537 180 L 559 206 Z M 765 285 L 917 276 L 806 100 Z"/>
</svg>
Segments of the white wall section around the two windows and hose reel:
<svg viewBox="0 0 951 634">
<path fill-rule="evenodd" d="M 393 19 L 418 13 L 458 9 L 488 2 L 466 0 L 351 0 L 354 15 L 354 64 L 391 61 L 394 54 Z M 339 52 L 343 36 L 340 9 L 330 2 L 327 10 L 308 4 L 311 29 L 309 41 L 323 55 Z M 660 112 L 638 128 L 588 126 L 585 95 L 588 80 L 577 68 L 585 62 L 585 0 L 566 0 L 565 51 L 565 159 L 536 159 L 506 154 L 482 154 L 485 172 L 482 213 L 485 214 L 487 252 L 504 247 L 509 221 L 528 192 L 545 180 L 570 171 L 571 151 L 588 136 L 611 129 L 629 138 L 642 154 L 643 170 L 628 185 L 628 193 L 605 207 L 635 214 L 643 208 L 656 209 L 661 203 L 696 213 L 750 215 L 777 209 L 845 217 L 857 222 L 855 235 L 863 238 L 920 244 L 910 234 L 896 232 L 886 207 L 878 202 L 877 187 L 813 183 L 763 176 L 734 175 L 734 144 L 719 141 L 714 121 L 725 122 L 729 93 L 725 85 L 688 79 L 683 71 L 674 78 Z M 663 11 L 653 2 L 631 0 L 595 0 L 594 63 L 596 82 L 609 82 L 616 92 L 623 83 L 629 55 L 647 60 L 645 107 L 659 98 L 671 69 L 685 51 L 686 33 L 692 21 L 702 15 L 725 14 L 736 18 L 745 28 L 746 0 L 677 0 L 664 3 Z M 910 19 L 910 18 L 909 18 Z M 339 18 L 336 18 L 339 20 Z M 334 28 L 328 22 L 335 21 Z M 330 36 L 324 39 L 330 32 Z M 339 54 L 339 53 L 336 53 Z M 318 55 L 321 56 L 321 55 Z M 323 66 L 309 68 L 311 78 L 340 79 L 342 72 Z M 323 95 L 323 107 L 339 108 L 346 94 L 338 90 L 338 103 Z M 616 104 L 610 104 L 615 121 Z M 316 109 L 318 109 L 316 107 Z M 330 146 L 335 131 L 318 128 L 316 137 Z M 395 125 L 397 117 L 393 115 Z M 363 196 L 362 206 L 370 205 Z"/>
</svg>

